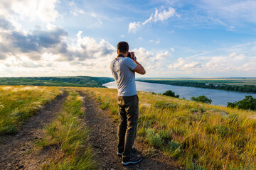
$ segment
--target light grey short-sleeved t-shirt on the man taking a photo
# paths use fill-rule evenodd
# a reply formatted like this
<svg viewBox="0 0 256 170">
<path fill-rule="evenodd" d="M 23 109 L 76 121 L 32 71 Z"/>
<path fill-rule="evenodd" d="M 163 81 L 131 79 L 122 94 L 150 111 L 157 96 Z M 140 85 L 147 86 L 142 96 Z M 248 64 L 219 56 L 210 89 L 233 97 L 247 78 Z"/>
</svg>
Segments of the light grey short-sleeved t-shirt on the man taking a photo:
<svg viewBox="0 0 256 170">
<path fill-rule="evenodd" d="M 119 57 L 110 64 L 114 80 L 117 84 L 118 96 L 134 96 L 137 94 L 135 72 L 137 66 L 129 57 Z"/>
</svg>

